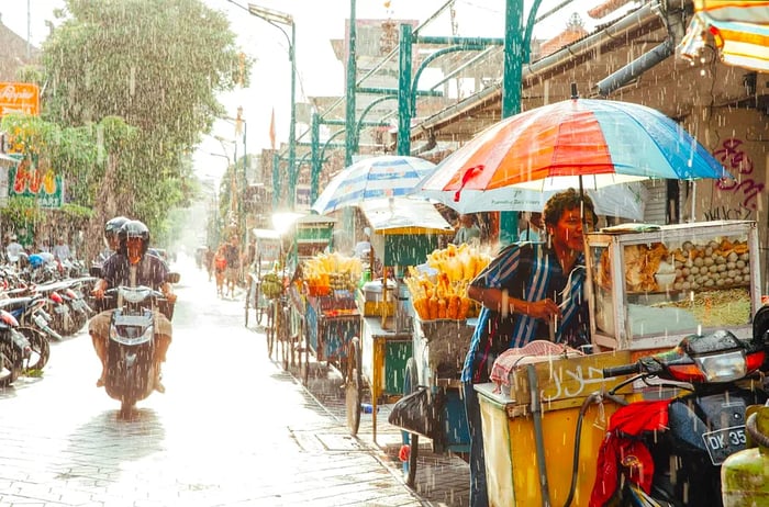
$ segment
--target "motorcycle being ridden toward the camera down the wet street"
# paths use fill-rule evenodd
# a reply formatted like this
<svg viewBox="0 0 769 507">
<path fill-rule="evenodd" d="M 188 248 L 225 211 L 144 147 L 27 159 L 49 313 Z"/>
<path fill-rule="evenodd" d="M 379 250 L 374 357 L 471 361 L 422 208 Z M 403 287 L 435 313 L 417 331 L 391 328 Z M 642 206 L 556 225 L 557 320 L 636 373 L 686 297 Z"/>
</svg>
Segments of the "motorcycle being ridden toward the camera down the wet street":
<svg viewBox="0 0 769 507">
<path fill-rule="evenodd" d="M 167 281 L 177 283 L 178 273 Z M 144 285 L 118 286 L 104 292 L 105 303 L 114 302 L 107 345 L 107 394 L 121 402 L 121 414 L 130 413 L 155 388 L 155 318 L 153 311 L 168 311 L 163 293 Z"/>
</svg>

